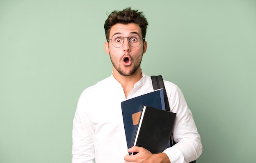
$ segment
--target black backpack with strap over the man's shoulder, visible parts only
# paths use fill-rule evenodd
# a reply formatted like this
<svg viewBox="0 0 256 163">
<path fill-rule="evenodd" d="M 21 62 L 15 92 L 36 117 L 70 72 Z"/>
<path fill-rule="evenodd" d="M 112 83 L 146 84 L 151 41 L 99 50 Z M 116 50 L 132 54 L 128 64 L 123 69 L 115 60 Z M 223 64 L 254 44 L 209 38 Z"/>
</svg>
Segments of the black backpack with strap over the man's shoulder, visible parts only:
<svg viewBox="0 0 256 163">
<path fill-rule="evenodd" d="M 167 94 L 166 94 L 166 90 L 165 90 L 165 87 L 164 87 L 164 80 L 163 80 L 162 75 L 151 76 L 151 79 L 152 79 L 152 84 L 153 84 L 154 90 L 163 88 L 165 110 L 171 111 L 171 110 L 170 110 L 170 106 L 169 106 L 168 97 L 167 97 Z M 170 137 L 170 143 L 171 143 L 171 146 L 173 146 L 173 145 L 175 144 L 175 141 L 173 140 L 172 134 L 171 134 L 171 137 Z M 190 162 L 190 163 L 196 163 L 196 160 L 195 160 L 195 161 L 192 161 L 192 162 Z"/>
</svg>

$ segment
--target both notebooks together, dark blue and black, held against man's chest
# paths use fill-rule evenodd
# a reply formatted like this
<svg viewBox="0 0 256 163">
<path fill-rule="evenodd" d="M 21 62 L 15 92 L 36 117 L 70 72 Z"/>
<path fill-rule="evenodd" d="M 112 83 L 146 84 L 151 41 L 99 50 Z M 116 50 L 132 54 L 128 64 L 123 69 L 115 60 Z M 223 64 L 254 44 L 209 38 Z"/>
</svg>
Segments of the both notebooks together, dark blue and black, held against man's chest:
<svg viewBox="0 0 256 163">
<path fill-rule="evenodd" d="M 128 148 L 159 153 L 168 147 L 176 114 L 165 110 L 162 88 L 123 101 L 121 108 Z"/>
</svg>

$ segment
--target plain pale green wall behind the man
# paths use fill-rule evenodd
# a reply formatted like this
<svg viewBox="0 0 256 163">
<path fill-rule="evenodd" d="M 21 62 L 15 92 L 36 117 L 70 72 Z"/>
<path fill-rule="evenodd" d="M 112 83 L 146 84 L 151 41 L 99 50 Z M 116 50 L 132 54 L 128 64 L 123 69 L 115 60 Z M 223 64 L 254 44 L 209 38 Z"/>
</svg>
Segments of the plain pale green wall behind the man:
<svg viewBox="0 0 256 163">
<path fill-rule="evenodd" d="M 111 75 L 103 24 L 144 11 L 141 64 L 183 91 L 198 163 L 255 163 L 255 0 L 0 0 L 0 163 L 70 163 L 81 92 Z"/>
</svg>

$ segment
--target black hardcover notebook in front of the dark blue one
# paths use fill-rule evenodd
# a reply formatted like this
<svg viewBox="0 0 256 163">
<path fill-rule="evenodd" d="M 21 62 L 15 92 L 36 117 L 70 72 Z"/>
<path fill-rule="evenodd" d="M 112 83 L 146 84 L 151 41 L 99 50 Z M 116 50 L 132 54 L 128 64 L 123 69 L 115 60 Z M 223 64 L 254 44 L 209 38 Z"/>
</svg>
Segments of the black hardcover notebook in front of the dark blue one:
<svg viewBox="0 0 256 163">
<path fill-rule="evenodd" d="M 163 152 L 170 140 L 175 117 L 176 113 L 144 106 L 133 145 L 151 153 Z"/>
</svg>

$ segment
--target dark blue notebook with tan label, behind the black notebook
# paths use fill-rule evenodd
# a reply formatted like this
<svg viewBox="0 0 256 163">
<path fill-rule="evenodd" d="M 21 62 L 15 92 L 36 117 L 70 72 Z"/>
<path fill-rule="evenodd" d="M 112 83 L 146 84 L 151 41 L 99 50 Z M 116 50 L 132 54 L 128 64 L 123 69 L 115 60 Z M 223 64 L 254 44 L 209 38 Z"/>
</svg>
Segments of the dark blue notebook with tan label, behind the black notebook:
<svg viewBox="0 0 256 163">
<path fill-rule="evenodd" d="M 121 102 L 128 148 L 131 148 L 133 145 L 143 106 L 165 110 L 163 89 L 154 90 L 153 92 Z"/>
</svg>

